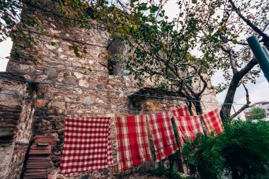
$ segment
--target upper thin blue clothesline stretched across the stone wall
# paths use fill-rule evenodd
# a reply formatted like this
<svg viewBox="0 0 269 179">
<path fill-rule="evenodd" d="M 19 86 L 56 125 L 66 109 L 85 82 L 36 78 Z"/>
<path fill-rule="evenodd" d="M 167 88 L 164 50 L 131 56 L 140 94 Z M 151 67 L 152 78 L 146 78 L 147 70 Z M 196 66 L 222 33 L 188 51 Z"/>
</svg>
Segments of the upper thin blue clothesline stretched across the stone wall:
<svg viewBox="0 0 269 179">
<path fill-rule="evenodd" d="M 26 79 L 13 79 L 13 78 L 8 78 L 8 77 L 3 77 L 3 76 L 0 76 L 0 79 L 7 79 L 7 80 L 11 80 L 11 81 L 23 81 L 23 82 L 28 82 L 28 83 L 41 83 L 41 84 L 60 86 L 60 87 L 66 87 L 66 88 L 88 89 L 88 90 L 92 90 L 92 91 L 102 91 L 105 93 L 122 93 L 122 94 L 125 94 L 128 96 L 130 96 L 130 95 L 132 95 L 132 96 L 144 96 L 144 97 L 159 98 L 159 99 L 166 99 L 166 100 L 182 100 L 182 101 L 188 101 L 188 102 L 212 103 L 212 104 L 217 104 L 217 105 L 246 105 L 246 104 L 210 102 L 210 101 L 203 101 L 203 100 L 188 100 L 188 99 L 183 99 L 183 98 L 172 98 L 172 97 L 165 97 L 165 96 L 152 96 L 152 95 L 147 95 L 147 94 L 127 93 L 124 91 L 113 91 L 113 90 L 102 90 L 102 89 L 98 89 L 98 88 L 90 88 L 90 87 L 83 87 L 83 86 L 70 86 L 70 85 L 57 84 L 57 83 L 47 83 L 47 82 L 42 82 L 42 81 L 31 81 L 31 80 L 26 80 Z M 195 104 L 195 105 L 198 105 L 198 104 Z"/>
</svg>

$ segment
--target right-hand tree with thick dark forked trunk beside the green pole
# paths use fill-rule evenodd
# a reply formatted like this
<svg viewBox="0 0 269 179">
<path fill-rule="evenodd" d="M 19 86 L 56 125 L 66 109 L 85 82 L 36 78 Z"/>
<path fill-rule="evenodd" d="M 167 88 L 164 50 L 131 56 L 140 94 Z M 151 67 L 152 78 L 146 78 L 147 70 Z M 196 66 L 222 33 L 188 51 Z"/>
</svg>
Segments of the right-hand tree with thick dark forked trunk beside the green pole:
<svg viewBox="0 0 269 179">
<path fill-rule="evenodd" d="M 246 37 L 242 34 L 256 35 L 260 42 L 269 49 L 269 35 L 268 32 L 268 1 L 223 1 L 224 16 L 222 23 L 219 23 L 221 32 L 219 32 L 219 39 L 222 40 L 222 50 L 229 56 L 231 65 L 231 76 L 227 76 L 230 80 L 227 95 L 224 103 L 233 103 L 236 88 L 240 84 L 246 83 L 248 79 L 255 83 L 255 79 L 259 74 L 259 70 L 251 70 L 258 64 L 256 59 L 251 57 L 251 52 L 246 46 Z M 242 40 L 240 39 L 240 36 Z M 229 42 L 230 45 L 229 45 Z M 234 45 L 241 45 L 241 50 L 236 52 Z M 242 63 L 243 62 L 243 63 Z M 246 89 L 246 86 L 244 86 Z M 235 112 L 232 117 L 236 117 L 245 108 L 248 108 L 250 101 L 248 98 L 248 91 L 246 90 L 246 105 L 244 105 L 238 112 Z M 224 105 L 222 107 L 222 118 L 225 115 L 230 115 L 231 105 Z"/>
</svg>

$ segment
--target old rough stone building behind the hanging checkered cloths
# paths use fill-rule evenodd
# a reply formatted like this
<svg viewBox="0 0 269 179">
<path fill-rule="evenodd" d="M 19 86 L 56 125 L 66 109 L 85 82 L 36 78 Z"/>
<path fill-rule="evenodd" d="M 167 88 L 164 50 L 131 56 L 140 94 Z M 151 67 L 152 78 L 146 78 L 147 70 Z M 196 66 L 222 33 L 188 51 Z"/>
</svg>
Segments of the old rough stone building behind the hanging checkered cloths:
<svg viewBox="0 0 269 179">
<path fill-rule="evenodd" d="M 186 105 L 181 100 L 135 95 L 158 93 L 154 92 L 152 86 L 138 88 L 132 76 L 124 75 L 120 64 L 110 73 L 105 56 L 111 52 L 118 53 L 119 47 L 124 51 L 125 47 L 116 41 L 111 45 L 105 30 L 64 28 L 57 20 L 50 18 L 50 14 L 38 10 L 30 13 L 48 16 L 44 23 L 48 35 L 29 30 L 41 60 L 36 63 L 28 60 L 25 49 L 14 52 L 14 44 L 6 73 L 0 74 L 0 178 L 20 178 L 28 149 L 34 137 L 40 135 L 54 137 L 48 173 L 59 171 L 64 117 L 116 117 L 159 112 Z M 99 26 L 95 21 L 92 23 L 94 27 Z M 70 47 L 79 47 L 80 57 Z M 117 48 L 114 49 L 115 47 Z M 165 96 L 174 97 L 178 94 L 167 92 Z M 214 93 L 203 98 L 217 102 Z M 214 108 L 205 107 L 205 110 Z M 113 121 L 110 129 L 114 165 L 108 170 L 89 171 L 76 178 L 118 176 Z M 126 173 L 139 168 L 141 166 L 131 168 Z"/>
</svg>

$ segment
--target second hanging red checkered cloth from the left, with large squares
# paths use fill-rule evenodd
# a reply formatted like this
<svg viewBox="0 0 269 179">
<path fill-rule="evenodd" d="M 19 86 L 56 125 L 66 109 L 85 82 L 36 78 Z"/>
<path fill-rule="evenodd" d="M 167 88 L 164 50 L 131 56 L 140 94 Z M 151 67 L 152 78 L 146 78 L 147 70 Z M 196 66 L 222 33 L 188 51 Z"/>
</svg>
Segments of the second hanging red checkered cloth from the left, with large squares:
<svg viewBox="0 0 269 179">
<path fill-rule="evenodd" d="M 151 160 L 147 117 L 145 115 L 117 117 L 117 162 L 119 171 Z"/>
</svg>

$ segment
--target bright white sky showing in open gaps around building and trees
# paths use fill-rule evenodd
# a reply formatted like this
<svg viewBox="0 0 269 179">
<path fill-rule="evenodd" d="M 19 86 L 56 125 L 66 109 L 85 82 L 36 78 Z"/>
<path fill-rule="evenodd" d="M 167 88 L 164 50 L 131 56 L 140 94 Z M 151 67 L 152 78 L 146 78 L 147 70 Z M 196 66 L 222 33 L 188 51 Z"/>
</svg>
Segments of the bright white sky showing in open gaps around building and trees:
<svg viewBox="0 0 269 179">
<path fill-rule="evenodd" d="M 176 16 L 176 12 L 178 11 L 178 6 L 176 5 L 177 0 L 170 0 L 166 4 L 164 8 L 166 8 L 166 15 L 169 18 L 173 18 Z M 10 38 L 4 42 L 0 42 L 0 71 L 6 70 L 6 64 L 8 59 L 6 57 L 9 56 L 11 52 L 12 41 Z M 212 77 L 212 84 L 217 86 L 218 83 L 222 83 L 224 78 L 222 77 L 222 71 L 217 71 L 216 74 Z M 249 96 L 251 103 L 256 103 L 259 101 L 267 100 L 269 101 L 269 83 L 265 79 L 263 72 L 261 72 L 261 76 L 257 79 L 256 84 L 247 83 L 246 87 L 248 88 Z M 217 94 L 217 99 L 219 102 L 223 102 L 227 91 L 223 91 L 222 93 Z M 236 96 L 234 98 L 234 103 L 236 104 L 244 104 L 246 103 L 246 91 L 243 86 L 240 86 L 236 91 Z M 235 110 L 241 108 L 242 105 L 234 105 Z"/>
</svg>

